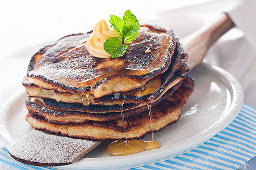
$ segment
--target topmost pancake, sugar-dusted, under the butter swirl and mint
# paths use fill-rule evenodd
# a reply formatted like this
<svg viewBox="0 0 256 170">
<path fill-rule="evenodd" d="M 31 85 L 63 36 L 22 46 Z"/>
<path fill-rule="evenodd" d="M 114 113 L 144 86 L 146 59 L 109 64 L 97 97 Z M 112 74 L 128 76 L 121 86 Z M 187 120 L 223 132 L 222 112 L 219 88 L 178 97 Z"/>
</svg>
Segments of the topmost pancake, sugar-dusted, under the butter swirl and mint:
<svg viewBox="0 0 256 170">
<path fill-rule="evenodd" d="M 173 31 L 153 25 L 141 25 L 139 36 L 119 58 L 91 56 L 86 40 L 83 34 L 70 35 L 39 50 L 30 61 L 27 80 L 48 90 L 96 98 L 127 92 L 165 72 L 176 45 Z"/>
</svg>

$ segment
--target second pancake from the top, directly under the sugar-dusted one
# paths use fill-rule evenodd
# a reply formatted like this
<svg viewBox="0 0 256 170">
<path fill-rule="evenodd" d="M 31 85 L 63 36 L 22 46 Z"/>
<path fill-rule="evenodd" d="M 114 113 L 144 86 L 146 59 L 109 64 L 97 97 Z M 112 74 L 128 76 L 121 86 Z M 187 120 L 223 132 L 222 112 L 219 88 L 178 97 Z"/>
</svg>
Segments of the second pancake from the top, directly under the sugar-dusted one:
<svg viewBox="0 0 256 170">
<path fill-rule="evenodd" d="M 176 41 L 177 46 L 175 48 L 173 60 L 171 61 L 171 64 L 165 71 L 165 73 L 157 75 L 153 79 L 149 80 L 149 82 L 145 84 L 142 90 L 133 90 L 122 94 L 125 96 L 125 100 L 117 99 L 117 97 L 115 96 L 116 94 L 95 98 L 91 94 L 89 94 L 88 96 L 83 96 L 80 94 L 71 94 L 69 92 L 58 92 L 57 90 L 46 90 L 44 88 L 36 86 L 35 84 L 28 83 L 27 80 L 24 80 L 23 86 L 26 87 L 26 92 L 29 96 L 41 97 L 43 98 L 43 100 L 53 99 L 56 101 L 62 101 L 64 103 L 83 103 L 83 105 L 115 105 L 123 103 L 124 101 L 125 103 L 145 104 L 148 103 L 149 100 L 152 100 L 152 95 L 153 99 L 156 96 L 162 96 L 166 88 L 168 90 L 169 88 L 177 84 L 181 79 L 186 77 L 189 71 L 189 67 L 186 63 L 186 60 L 184 59 L 187 56 L 187 53 L 180 48 L 178 39 Z M 177 73 L 175 73 L 175 71 Z M 51 106 L 48 105 L 48 107 Z"/>
</svg>

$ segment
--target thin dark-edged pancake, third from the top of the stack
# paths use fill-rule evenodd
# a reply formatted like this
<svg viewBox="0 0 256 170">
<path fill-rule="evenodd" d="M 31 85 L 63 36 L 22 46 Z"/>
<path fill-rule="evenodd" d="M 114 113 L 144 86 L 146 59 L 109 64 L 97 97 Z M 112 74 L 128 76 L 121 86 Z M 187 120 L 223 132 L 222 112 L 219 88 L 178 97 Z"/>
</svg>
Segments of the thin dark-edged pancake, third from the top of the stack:
<svg viewBox="0 0 256 170">
<path fill-rule="evenodd" d="M 179 87 L 180 84 L 182 83 L 182 79 L 177 78 L 177 76 L 175 76 L 174 78 L 171 79 L 170 82 L 166 83 L 166 86 L 161 86 L 161 88 L 158 89 L 157 92 L 154 92 L 153 94 L 148 94 L 145 96 L 118 94 L 119 95 L 118 99 L 116 99 L 117 94 L 115 94 L 115 95 L 107 95 L 104 97 L 100 97 L 98 99 L 98 101 L 101 101 L 101 103 L 107 103 L 107 101 L 110 101 L 111 103 L 115 103 L 116 100 L 119 101 L 119 103 L 115 105 L 89 104 L 85 106 L 79 103 L 64 103 L 64 102 L 56 101 L 52 99 L 45 99 L 45 98 L 38 98 L 38 97 L 36 99 L 41 101 L 41 103 L 43 103 L 48 108 L 58 109 L 62 111 L 80 111 L 80 112 L 90 112 L 90 113 L 120 112 L 120 104 L 123 104 L 123 103 L 125 105 L 124 111 L 128 111 L 129 109 L 135 109 L 135 108 L 139 108 L 144 105 L 147 105 L 150 102 L 151 103 L 156 102 L 170 88 L 173 88 L 174 90 L 176 90 L 177 87 Z M 144 102 L 133 103 L 132 102 L 133 100 L 136 100 L 136 101 L 144 100 Z"/>
</svg>

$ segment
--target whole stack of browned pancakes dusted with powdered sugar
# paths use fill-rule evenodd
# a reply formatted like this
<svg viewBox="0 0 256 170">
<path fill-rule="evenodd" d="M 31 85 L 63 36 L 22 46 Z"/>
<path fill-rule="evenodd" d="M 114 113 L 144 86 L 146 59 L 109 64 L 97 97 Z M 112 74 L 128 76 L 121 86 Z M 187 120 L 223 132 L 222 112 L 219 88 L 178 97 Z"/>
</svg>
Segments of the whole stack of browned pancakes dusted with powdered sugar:
<svg viewBox="0 0 256 170">
<path fill-rule="evenodd" d="M 178 121 L 194 82 L 173 31 L 141 25 L 119 58 L 91 56 L 86 40 L 62 37 L 32 57 L 23 86 L 33 128 L 93 140 L 142 138 L 151 132 L 148 104 L 153 131 Z"/>
</svg>

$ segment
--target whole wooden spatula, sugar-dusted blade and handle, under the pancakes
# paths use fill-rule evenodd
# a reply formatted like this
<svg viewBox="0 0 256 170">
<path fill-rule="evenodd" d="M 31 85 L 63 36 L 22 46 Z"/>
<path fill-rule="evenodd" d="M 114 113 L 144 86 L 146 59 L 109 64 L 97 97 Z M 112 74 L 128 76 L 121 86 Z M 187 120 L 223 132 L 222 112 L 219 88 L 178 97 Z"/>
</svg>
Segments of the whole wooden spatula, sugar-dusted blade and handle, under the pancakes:
<svg viewBox="0 0 256 170">
<path fill-rule="evenodd" d="M 216 23 L 182 40 L 188 50 L 191 70 L 202 62 L 209 47 L 232 27 L 232 20 L 224 14 Z M 56 166 L 74 163 L 99 143 L 32 130 L 10 146 L 8 151 L 12 158 L 26 164 Z"/>
</svg>

